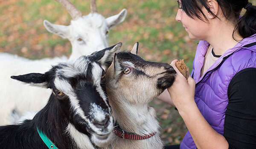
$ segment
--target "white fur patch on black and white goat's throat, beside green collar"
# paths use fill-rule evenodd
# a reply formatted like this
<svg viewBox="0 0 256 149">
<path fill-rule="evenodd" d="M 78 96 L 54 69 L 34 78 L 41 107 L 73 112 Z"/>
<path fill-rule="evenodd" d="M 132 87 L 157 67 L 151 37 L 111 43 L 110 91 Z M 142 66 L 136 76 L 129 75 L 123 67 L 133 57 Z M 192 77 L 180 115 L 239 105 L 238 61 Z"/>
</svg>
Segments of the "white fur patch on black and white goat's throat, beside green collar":
<svg viewBox="0 0 256 149">
<path fill-rule="evenodd" d="M 89 137 L 79 132 L 71 123 L 68 124 L 66 133 L 69 134 L 71 138 L 73 138 L 79 149 L 94 149 Z"/>
</svg>

